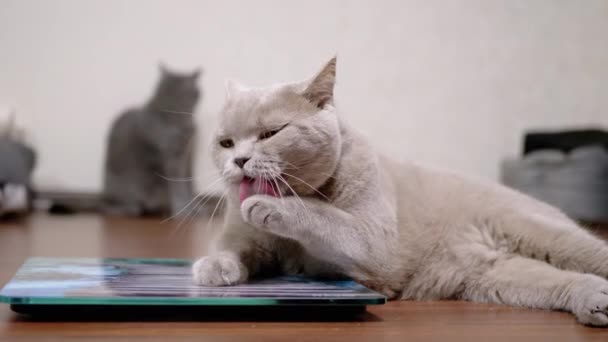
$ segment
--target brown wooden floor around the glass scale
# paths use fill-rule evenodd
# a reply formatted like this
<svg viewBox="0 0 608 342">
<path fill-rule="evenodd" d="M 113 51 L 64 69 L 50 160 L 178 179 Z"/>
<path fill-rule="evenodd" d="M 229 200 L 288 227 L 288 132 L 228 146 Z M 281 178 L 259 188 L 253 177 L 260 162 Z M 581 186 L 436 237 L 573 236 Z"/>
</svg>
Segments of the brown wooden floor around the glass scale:
<svg viewBox="0 0 608 342">
<path fill-rule="evenodd" d="M 215 223 L 217 224 L 217 222 Z M 34 215 L 0 224 L 0 284 L 30 256 L 176 257 L 203 253 L 213 222 L 176 229 L 156 220 Z M 196 226 L 196 228 L 195 228 Z M 354 321 L 289 317 L 28 321 L 0 306 L 0 341 L 608 341 L 608 329 L 561 312 L 463 302 L 391 302 Z"/>
</svg>

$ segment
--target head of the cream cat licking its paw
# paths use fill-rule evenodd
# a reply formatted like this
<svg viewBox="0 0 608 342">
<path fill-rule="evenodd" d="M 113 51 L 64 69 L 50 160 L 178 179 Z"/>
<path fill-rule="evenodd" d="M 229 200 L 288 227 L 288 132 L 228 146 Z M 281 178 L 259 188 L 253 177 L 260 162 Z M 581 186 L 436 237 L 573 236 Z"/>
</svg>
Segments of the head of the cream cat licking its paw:
<svg viewBox="0 0 608 342">
<path fill-rule="evenodd" d="M 223 179 L 265 178 L 282 194 L 312 194 L 333 174 L 341 153 L 334 108 L 336 59 L 313 78 L 267 88 L 226 84 L 213 141 Z"/>
</svg>

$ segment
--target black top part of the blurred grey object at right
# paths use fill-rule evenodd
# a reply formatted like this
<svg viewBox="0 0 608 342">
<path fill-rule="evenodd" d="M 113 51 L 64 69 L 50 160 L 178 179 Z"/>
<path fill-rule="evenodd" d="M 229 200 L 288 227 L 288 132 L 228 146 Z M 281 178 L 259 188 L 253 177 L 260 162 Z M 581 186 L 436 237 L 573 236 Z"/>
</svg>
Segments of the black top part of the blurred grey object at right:
<svg viewBox="0 0 608 342">
<path fill-rule="evenodd" d="M 570 152 L 576 148 L 600 145 L 608 150 L 608 132 L 599 129 L 561 132 L 529 132 L 524 138 L 524 155 L 538 150 Z"/>
</svg>

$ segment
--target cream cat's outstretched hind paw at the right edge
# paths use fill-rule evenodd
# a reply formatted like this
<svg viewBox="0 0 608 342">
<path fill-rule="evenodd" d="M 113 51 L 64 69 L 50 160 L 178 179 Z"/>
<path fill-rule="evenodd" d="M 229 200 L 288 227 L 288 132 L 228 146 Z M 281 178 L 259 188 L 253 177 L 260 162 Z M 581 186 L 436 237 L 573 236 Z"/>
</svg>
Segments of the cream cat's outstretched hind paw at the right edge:
<svg viewBox="0 0 608 342">
<path fill-rule="evenodd" d="M 573 312 L 585 325 L 608 326 L 608 282 L 591 277 L 572 296 Z"/>
</svg>

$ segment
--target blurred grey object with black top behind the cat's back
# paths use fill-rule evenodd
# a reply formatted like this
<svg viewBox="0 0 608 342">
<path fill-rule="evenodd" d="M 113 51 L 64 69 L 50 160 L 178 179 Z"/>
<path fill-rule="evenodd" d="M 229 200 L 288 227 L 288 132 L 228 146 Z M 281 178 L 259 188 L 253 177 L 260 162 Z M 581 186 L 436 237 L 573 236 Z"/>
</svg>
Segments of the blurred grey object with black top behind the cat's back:
<svg viewBox="0 0 608 342">
<path fill-rule="evenodd" d="M 528 133 L 524 156 L 503 163 L 502 181 L 555 205 L 572 218 L 606 223 L 607 136 L 599 129 Z"/>
</svg>

